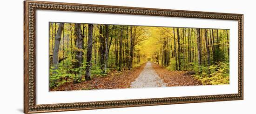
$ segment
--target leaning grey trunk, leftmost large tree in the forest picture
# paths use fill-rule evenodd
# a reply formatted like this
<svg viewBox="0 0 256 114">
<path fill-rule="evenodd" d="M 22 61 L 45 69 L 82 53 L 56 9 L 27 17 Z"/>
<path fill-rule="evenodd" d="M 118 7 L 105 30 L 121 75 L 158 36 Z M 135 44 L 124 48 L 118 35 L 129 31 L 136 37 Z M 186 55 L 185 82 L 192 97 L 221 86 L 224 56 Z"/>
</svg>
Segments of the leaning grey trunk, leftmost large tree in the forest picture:
<svg viewBox="0 0 256 114">
<path fill-rule="evenodd" d="M 54 41 L 54 53 L 53 53 L 53 66 L 54 70 L 58 69 L 58 64 L 59 64 L 59 48 L 60 48 L 60 41 L 61 41 L 61 34 L 64 28 L 64 23 L 60 23 L 58 27 L 57 34 L 55 36 L 55 41 Z M 56 72 L 54 72 L 56 73 Z"/>
</svg>

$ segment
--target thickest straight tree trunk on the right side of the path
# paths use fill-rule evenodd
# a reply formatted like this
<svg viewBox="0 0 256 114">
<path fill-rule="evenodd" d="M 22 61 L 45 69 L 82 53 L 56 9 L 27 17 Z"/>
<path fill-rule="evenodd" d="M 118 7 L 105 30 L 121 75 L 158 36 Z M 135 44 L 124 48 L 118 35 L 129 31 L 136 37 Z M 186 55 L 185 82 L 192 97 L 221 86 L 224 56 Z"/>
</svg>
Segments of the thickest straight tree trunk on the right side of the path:
<svg viewBox="0 0 256 114">
<path fill-rule="evenodd" d="M 198 56 L 198 66 L 199 66 L 199 74 L 202 74 L 202 52 L 201 52 L 201 31 L 200 28 L 196 28 L 197 32 L 197 56 Z"/>
</svg>

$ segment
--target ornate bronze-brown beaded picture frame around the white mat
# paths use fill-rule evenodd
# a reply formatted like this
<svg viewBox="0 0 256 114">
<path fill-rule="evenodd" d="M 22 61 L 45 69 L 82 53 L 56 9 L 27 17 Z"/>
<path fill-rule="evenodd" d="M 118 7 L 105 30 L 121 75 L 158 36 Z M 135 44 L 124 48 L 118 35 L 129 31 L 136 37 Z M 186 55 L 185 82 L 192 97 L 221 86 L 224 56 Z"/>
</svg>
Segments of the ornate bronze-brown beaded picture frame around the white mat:
<svg viewBox="0 0 256 114">
<path fill-rule="evenodd" d="M 119 101 L 92 101 L 36 105 L 35 24 L 36 10 L 152 15 L 182 18 L 238 20 L 238 94 L 217 94 Z M 243 100 L 243 14 L 184 11 L 141 7 L 119 7 L 47 1 L 24 1 L 24 113 L 58 112 L 115 107 L 139 107 L 209 101 Z"/>
</svg>

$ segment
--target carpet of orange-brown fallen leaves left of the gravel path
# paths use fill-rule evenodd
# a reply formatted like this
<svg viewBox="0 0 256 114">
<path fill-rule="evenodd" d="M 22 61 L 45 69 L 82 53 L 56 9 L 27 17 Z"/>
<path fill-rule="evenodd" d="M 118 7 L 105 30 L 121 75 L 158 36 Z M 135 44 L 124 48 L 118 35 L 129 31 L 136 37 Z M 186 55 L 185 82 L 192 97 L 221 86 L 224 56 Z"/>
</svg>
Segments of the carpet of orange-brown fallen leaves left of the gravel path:
<svg viewBox="0 0 256 114">
<path fill-rule="evenodd" d="M 142 64 L 140 67 L 135 67 L 132 70 L 123 70 L 122 72 L 113 70 L 107 76 L 93 77 L 92 80 L 76 84 L 72 82 L 65 83 L 60 87 L 50 89 L 50 91 L 130 88 L 131 82 L 138 78 L 145 65 Z"/>
</svg>

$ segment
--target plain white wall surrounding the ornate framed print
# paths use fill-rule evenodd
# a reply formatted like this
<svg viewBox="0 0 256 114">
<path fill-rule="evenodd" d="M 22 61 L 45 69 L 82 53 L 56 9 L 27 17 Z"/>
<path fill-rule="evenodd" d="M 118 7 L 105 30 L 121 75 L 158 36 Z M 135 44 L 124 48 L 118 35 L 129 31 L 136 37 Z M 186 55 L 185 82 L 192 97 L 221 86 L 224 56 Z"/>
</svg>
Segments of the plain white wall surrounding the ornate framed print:
<svg viewBox="0 0 256 114">
<path fill-rule="evenodd" d="M 244 14 L 244 100 L 128 107 L 53 114 L 255 114 L 255 4 L 253 0 L 51 0 L 87 4 Z M 0 113 L 23 112 L 23 0 L 0 3 Z M 246 113 L 245 113 L 246 114 Z"/>
</svg>

